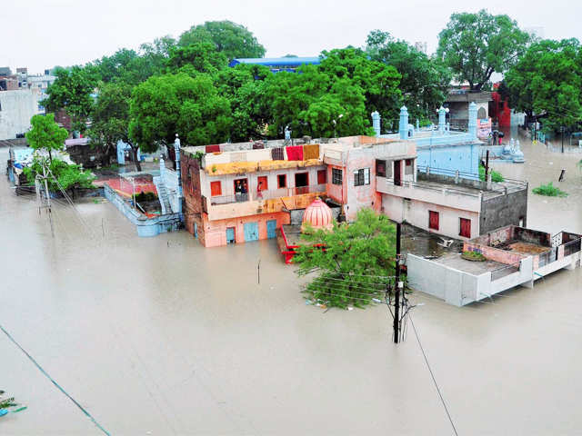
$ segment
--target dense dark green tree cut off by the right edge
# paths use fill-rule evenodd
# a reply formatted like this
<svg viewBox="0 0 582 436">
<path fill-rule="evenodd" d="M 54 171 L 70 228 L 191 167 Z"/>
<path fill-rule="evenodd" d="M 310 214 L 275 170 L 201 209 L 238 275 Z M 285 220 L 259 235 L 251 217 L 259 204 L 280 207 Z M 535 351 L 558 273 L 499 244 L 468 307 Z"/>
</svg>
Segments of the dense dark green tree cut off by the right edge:
<svg viewBox="0 0 582 436">
<path fill-rule="evenodd" d="M 576 39 L 541 40 L 506 74 L 504 94 L 517 111 L 541 118 L 548 131 L 582 120 L 582 50 Z"/>
</svg>

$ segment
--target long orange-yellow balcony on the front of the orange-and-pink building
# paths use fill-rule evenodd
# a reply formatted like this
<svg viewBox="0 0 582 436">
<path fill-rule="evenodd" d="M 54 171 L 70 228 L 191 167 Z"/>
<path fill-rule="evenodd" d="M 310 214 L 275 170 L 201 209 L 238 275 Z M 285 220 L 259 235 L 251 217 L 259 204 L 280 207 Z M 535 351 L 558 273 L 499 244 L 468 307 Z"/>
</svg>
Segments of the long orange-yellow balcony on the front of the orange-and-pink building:
<svg viewBox="0 0 582 436">
<path fill-rule="evenodd" d="M 225 220 L 257 213 L 277 213 L 305 209 L 317 196 L 326 194 L 326 184 L 279 188 L 258 193 L 202 196 L 203 211 L 209 220 Z M 258 198 L 256 198 L 258 197 Z"/>
</svg>

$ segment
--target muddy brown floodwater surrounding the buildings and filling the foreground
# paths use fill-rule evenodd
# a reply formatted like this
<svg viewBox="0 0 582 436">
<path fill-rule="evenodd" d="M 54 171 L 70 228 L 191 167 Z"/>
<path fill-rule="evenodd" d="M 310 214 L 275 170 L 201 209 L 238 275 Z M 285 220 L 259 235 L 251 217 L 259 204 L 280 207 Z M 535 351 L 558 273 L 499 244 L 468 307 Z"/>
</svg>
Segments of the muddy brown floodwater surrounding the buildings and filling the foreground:
<svg viewBox="0 0 582 436">
<path fill-rule="evenodd" d="M 530 188 L 566 168 L 569 193 L 530 191 L 528 227 L 582 233 L 580 156 L 523 143 L 527 163 L 492 166 Z M 275 241 L 205 249 L 138 238 L 110 203 L 54 210 L 52 238 L 0 179 L 0 325 L 111 434 L 453 434 L 410 326 L 396 346 L 386 306 L 307 306 Z M 580 432 L 580 271 L 463 308 L 411 297 L 458 434 Z M 2 332 L 0 389 L 28 406 L 0 434 L 104 434 Z"/>
</svg>

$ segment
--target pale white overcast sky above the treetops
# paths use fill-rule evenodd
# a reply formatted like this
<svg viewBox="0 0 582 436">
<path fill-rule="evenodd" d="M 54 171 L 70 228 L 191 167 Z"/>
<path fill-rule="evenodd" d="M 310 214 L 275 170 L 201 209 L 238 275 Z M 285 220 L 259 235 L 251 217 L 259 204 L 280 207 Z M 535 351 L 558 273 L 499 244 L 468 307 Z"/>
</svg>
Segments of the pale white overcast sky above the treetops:
<svg viewBox="0 0 582 436">
<path fill-rule="evenodd" d="M 224 19 L 246 25 L 267 56 L 360 46 L 373 29 L 413 44 L 426 41 L 433 52 L 452 13 L 484 6 L 510 15 L 522 28 L 544 27 L 547 38 L 582 40 L 580 0 L 29 0 L 3 7 L 0 66 L 41 73 L 54 65 L 85 64 L 118 48 L 137 48 L 158 36 L 177 37 L 192 25 Z"/>
</svg>

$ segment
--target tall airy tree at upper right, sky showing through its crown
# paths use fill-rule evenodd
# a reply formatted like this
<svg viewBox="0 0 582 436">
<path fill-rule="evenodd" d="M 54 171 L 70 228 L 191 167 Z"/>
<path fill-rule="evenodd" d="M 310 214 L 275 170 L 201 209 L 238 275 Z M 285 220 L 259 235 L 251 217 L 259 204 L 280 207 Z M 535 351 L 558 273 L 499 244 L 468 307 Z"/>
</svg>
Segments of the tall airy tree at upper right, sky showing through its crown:
<svg viewBox="0 0 582 436">
<path fill-rule="evenodd" d="M 459 82 L 481 90 L 494 72 L 505 73 L 525 53 L 530 35 L 507 15 L 451 15 L 438 34 L 437 55 L 454 72 Z"/>
</svg>

